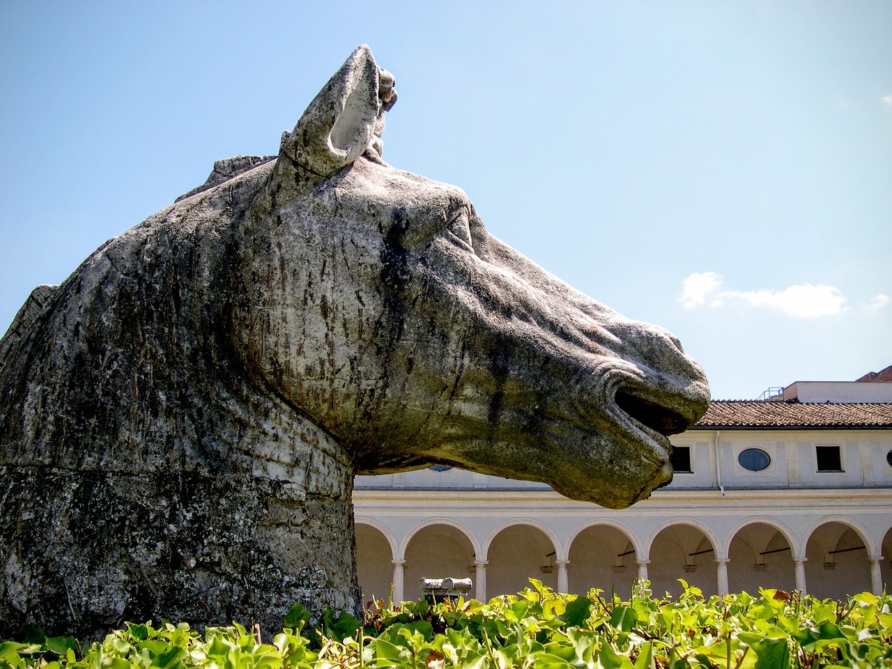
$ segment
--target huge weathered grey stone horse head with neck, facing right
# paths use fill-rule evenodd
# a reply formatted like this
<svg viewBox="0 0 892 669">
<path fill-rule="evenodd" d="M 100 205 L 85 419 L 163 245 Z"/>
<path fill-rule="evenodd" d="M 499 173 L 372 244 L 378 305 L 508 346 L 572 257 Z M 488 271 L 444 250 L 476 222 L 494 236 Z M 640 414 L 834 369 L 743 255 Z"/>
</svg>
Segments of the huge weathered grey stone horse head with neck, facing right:
<svg viewBox="0 0 892 669">
<path fill-rule="evenodd" d="M 355 474 L 449 464 L 621 508 L 702 370 L 381 159 L 360 46 L 275 157 L 31 294 L 0 342 L 0 632 L 358 606 Z"/>
</svg>

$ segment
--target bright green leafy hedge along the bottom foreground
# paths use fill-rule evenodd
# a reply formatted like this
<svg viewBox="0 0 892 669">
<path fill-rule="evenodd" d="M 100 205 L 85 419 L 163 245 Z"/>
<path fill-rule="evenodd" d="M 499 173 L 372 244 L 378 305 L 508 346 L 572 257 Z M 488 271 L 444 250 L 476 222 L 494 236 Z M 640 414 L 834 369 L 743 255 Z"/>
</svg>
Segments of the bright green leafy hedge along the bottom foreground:
<svg viewBox="0 0 892 669">
<path fill-rule="evenodd" d="M 630 599 L 602 591 L 564 595 L 531 579 L 517 595 L 491 599 L 370 603 L 364 621 L 294 605 L 271 642 L 241 624 L 130 624 L 82 648 L 70 637 L 0 642 L 14 669 L 817 669 L 892 667 L 892 598 L 847 602 L 761 590 L 702 596 L 682 581 L 678 599 L 655 598 L 647 582 Z M 266 633 L 267 631 L 264 631 Z"/>
</svg>

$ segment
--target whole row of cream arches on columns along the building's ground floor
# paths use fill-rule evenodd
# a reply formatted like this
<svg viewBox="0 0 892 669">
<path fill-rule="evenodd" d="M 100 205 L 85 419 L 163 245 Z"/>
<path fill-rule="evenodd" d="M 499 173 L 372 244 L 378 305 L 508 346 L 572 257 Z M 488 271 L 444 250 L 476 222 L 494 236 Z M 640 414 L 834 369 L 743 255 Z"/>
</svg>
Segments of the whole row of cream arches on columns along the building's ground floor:
<svg viewBox="0 0 892 669">
<path fill-rule="evenodd" d="M 892 518 L 889 518 L 892 524 Z M 892 527 L 871 536 L 855 522 L 830 520 L 797 538 L 776 522 L 743 522 L 727 537 L 690 519 L 665 522 L 648 536 L 621 524 L 595 521 L 560 541 L 548 527 L 517 520 L 476 535 L 455 521 L 421 522 L 396 541 L 384 526 L 357 517 L 357 563 L 364 599 L 417 599 L 422 577 L 467 578 L 476 599 L 516 593 L 539 579 L 557 591 L 615 589 L 632 582 L 677 596 L 678 579 L 704 595 L 755 593 L 760 587 L 801 590 L 824 599 L 892 584 Z"/>
</svg>

